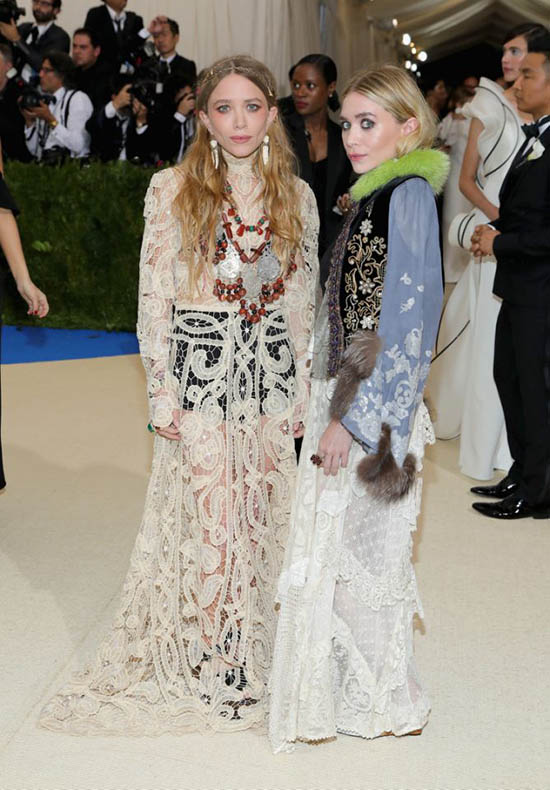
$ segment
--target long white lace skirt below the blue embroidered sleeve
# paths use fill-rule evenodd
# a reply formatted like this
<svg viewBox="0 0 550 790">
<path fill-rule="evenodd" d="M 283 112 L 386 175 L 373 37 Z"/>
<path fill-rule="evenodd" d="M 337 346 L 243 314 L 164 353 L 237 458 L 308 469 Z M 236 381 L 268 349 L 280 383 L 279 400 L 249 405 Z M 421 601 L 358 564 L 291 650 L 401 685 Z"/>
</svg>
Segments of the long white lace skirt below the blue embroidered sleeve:
<svg viewBox="0 0 550 790">
<path fill-rule="evenodd" d="M 411 563 L 422 481 L 400 502 L 374 500 L 347 469 L 325 477 L 310 461 L 328 424 L 330 385 L 314 381 L 283 572 L 270 680 L 269 735 L 275 752 L 337 733 L 375 738 L 422 728 L 430 704 L 413 655 L 421 614 Z M 410 451 L 421 468 L 433 443 L 424 405 Z"/>
</svg>

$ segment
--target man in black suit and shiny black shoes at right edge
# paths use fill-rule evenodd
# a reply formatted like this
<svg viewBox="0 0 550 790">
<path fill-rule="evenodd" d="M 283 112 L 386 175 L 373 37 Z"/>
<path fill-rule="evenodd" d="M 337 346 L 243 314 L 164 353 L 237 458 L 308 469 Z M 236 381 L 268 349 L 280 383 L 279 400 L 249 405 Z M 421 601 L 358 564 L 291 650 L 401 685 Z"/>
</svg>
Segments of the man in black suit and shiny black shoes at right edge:
<svg viewBox="0 0 550 790">
<path fill-rule="evenodd" d="M 502 185 L 499 218 L 472 237 L 475 255 L 497 259 L 494 375 L 514 462 L 498 485 L 472 489 L 500 501 L 473 506 L 491 518 L 550 518 L 549 31 L 529 41 L 514 92 L 535 123 Z"/>
</svg>

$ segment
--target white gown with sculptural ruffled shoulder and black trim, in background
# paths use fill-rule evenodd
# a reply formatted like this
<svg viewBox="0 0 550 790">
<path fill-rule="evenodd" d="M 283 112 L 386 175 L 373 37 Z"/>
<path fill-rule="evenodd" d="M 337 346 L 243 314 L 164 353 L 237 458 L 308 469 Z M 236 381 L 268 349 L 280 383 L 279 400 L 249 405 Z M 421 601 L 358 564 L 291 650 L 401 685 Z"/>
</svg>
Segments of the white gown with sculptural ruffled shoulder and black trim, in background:
<svg viewBox="0 0 550 790">
<path fill-rule="evenodd" d="M 462 112 L 483 124 L 477 181 L 487 199 L 498 206 L 500 187 L 524 140 L 521 121 L 503 89 L 485 77 Z M 479 209 L 460 214 L 449 237 L 469 249 L 475 226 L 485 222 L 488 219 Z M 450 439 L 460 434 L 460 469 L 477 480 L 490 480 L 494 469 L 508 469 L 512 463 L 493 380 L 501 305 L 493 294 L 495 270 L 494 258 L 471 258 L 445 306 L 428 380 L 437 415 L 436 435 Z"/>
</svg>

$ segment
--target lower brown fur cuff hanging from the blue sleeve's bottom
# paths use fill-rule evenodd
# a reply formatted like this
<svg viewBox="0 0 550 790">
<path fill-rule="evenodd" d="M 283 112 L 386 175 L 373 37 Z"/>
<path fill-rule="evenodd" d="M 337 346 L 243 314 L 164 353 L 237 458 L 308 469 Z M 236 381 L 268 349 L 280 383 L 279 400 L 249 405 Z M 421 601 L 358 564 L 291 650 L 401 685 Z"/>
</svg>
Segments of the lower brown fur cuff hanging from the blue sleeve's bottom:
<svg viewBox="0 0 550 790">
<path fill-rule="evenodd" d="M 357 466 L 357 475 L 371 496 L 396 502 L 409 491 L 416 477 L 416 458 L 408 453 L 399 467 L 391 451 L 391 429 L 382 423 L 378 450 Z"/>
</svg>

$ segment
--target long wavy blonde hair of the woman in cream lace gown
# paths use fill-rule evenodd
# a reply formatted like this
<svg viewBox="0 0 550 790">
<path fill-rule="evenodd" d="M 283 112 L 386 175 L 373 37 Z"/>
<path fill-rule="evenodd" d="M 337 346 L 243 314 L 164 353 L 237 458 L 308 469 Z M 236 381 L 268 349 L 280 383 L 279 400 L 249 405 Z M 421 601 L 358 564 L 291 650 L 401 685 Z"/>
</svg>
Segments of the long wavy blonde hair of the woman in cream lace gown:
<svg viewBox="0 0 550 790">
<path fill-rule="evenodd" d="M 236 55 L 216 61 L 200 75 L 197 115 L 201 110 L 205 113 L 208 111 L 208 100 L 213 90 L 229 74 L 238 74 L 253 82 L 262 91 L 269 108 L 277 105 L 275 79 L 269 69 L 248 55 Z M 182 249 L 191 263 L 191 289 L 196 288 L 205 266 L 214 257 L 216 226 L 220 220 L 227 180 L 223 150 L 220 152 L 219 167 L 215 168 L 208 130 L 202 122 L 197 126 L 195 139 L 178 166 L 183 179 L 175 200 L 181 221 Z M 254 167 L 263 181 L 263 208 L 269 217 L 273 234 L 273 251 L 286 272 L 292 254 L 299 249 L 302 236 L 298 180 L 295 176 L 296 159 L 278 116 L 271 123 L 268 134 L 270 150 L 267 165 L 262 161 L 260 146 L 256 151 Z"/>
</svg>

